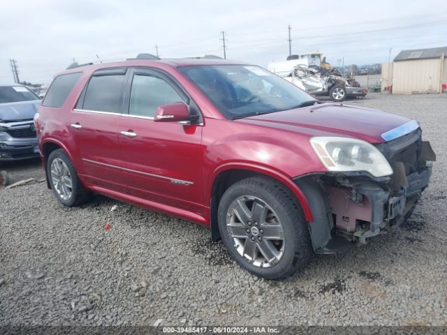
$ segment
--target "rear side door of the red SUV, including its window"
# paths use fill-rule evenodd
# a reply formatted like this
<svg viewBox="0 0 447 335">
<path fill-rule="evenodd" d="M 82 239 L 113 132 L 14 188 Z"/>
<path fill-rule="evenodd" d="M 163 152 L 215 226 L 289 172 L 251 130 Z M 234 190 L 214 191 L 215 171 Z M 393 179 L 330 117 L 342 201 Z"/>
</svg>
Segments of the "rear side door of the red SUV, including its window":
<svg viewBox="0 0 447 335">
<path fill-rule="evenodd" d="M 117 129 L 128 72 L 126 68 L 97 70 L 71 114 L 82 179 L 120 192 L 126 186 L 119 166 Z"/>
</svg>

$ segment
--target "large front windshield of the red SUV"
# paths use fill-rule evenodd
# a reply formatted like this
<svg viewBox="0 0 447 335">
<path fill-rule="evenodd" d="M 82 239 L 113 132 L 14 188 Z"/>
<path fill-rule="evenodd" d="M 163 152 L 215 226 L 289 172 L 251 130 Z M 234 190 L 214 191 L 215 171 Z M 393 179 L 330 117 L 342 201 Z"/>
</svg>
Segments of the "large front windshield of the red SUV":
<svg viewBox="0 0 447 335">
<path fill-rule="evenodd" d="M 315 101 L 295 85 L 258 66 L 184 66 L 179 70 L 227 119 L 290 110 Z"/>
</svg>

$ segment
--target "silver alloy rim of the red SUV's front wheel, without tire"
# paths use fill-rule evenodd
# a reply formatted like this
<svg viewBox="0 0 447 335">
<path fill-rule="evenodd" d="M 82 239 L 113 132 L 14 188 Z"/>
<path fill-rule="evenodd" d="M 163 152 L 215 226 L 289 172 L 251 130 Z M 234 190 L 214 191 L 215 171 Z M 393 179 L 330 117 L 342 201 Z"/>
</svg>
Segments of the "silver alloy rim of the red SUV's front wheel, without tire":
<svg viewBox="0 0 447 335">
<path fill-rule="evenodd" d="M 284 229 L 273 209 L 249 195 L 234 200 L 227 211 L 226 228 L 242 258 L 256 267 L 272 267 L 284 255 Z"/>
</svg>

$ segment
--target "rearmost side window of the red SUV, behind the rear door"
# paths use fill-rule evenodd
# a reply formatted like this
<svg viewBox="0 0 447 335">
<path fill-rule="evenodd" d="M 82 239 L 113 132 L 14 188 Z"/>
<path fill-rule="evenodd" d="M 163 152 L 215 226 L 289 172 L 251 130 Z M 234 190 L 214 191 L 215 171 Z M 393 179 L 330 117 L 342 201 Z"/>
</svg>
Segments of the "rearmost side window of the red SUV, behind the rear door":
<svg viewBox="0 0 447 335">
<path fill-rule="evenodd" d="M 45 100 L 42 105 L 48 107 L 61 107 L 82 75 L 81 72 L 59 75 L 54 78 L 50 89 L 45 94 Z"/>
</svg>

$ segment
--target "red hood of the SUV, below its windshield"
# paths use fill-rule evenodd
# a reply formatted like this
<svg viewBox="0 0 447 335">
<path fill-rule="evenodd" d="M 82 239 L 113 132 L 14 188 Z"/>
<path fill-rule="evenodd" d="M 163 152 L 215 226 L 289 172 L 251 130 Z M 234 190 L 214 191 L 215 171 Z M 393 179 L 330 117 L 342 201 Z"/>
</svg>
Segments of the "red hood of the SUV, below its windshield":
<svg viewBox="0 0 447 335">
<path fill-rule="evenodd" d="M 296 108 L 240 119 L 251 124 L 304 131 L 309 135 L 344 135 L 369 143 L 384 142 L 382 133 L 401 126 L 410 119 L 399 114 L 382 112 L 367 107 L 322 103 L 311 107 Z"/>
</svg>

